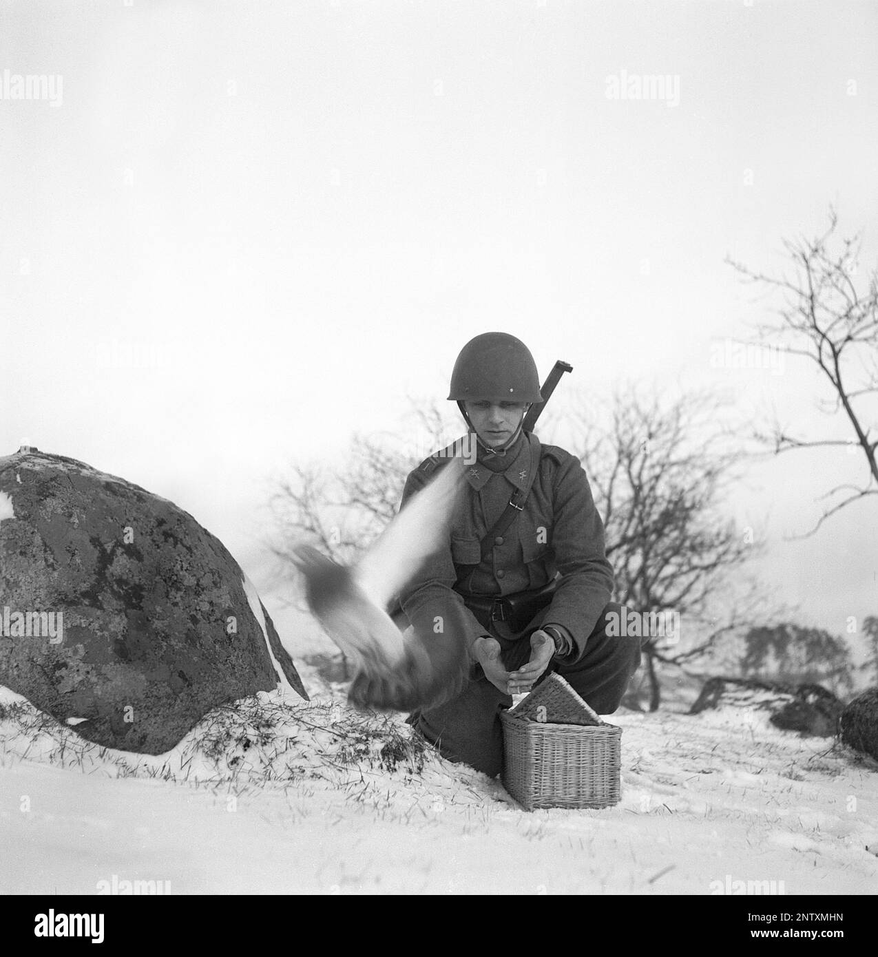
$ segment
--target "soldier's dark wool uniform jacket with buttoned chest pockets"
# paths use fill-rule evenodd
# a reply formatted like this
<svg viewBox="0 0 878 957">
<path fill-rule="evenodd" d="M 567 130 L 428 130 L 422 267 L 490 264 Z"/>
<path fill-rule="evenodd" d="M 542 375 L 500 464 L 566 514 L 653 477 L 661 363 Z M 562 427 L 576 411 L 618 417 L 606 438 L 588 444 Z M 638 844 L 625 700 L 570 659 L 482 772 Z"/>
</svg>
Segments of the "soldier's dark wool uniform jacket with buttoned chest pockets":
<svg viewBox="0 0 878 957">
<path fill-rule="evenodd" d="M 409 474 L 402 506 L 430 481 L 460 449 L 460 440 L 425 459 Z M 481 449 L 481 447 L 480 447 Z M 507 453 L 501 472 L 484 460 L 465 466 L 466 487 L 449 525 L 447 546 L 435 552 L 400 594 L 400 604 L 421 634 L 435 631 L 449 602 L 458 603 L 470 634 L 467 647 L 484 628 L 463 608 L 465 595 L 501 596 L 543 588 L 557 573 L 552 604 L 536 624 L 564 626 L 581 654 L 613 591 L 613 568 L 604 553 L 603 523 L 592 490 L 576 456 L 554 445 L 542 445 L 525 433 Z M 500 460 L 494 463 L 495 468 Z M 535 475 L 529 475 L 531 470 Z M 496 538 L 485 561 L 485 533 L 506 509 L 514 490 L 532 479 L 524 508 L 502 537 Z M 577 656 L 578 657 L 578 656 Z"/>
</svg>

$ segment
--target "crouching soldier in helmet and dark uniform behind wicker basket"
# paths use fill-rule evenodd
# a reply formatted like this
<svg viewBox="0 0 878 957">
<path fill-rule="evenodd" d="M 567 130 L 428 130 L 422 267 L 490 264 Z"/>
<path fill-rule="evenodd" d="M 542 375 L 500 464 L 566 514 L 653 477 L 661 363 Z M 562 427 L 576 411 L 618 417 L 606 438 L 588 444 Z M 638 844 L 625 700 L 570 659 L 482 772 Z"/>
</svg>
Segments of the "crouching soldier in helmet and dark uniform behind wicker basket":
<svg viewBox="0 0 878 957">
<path fill-rule="evenodd" d="M 527 346 L 502 332 L 477 336 L 458 357 L 448 398 L 478 451 L 464 469 L 447 548 L 400 602 L 421 634 L 437 631 L 449 603 L 463 606 L 473 666 L 460 695 L 409 722 L 444 757 L 494 776 L 511 695 L 554 671 L 598 714 L 611 714 L 640 664 L 640 638 L 606 634 L 607 614 L 620 606 L 610 602 L 613 568 L 579 460 L 522 429 L 542 401 Z M 409 475 L 403 505 L 451 454 L 442 450 Z"/>
</svg>

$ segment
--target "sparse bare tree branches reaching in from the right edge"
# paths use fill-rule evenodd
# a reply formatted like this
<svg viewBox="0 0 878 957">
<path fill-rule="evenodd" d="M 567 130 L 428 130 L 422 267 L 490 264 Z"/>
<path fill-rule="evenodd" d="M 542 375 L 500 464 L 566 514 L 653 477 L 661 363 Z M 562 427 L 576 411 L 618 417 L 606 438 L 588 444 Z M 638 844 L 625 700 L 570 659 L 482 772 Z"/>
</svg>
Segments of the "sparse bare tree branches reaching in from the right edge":
<svg viewBox="0 0 878 957">
<path fill-rule="evenodd" d="M 816 364 L 832 395 L 823 411 L 830 415 L 843 412 L 854 434 L 852 440 L 803 437 L 791 434 L 776 421 L 767 433 L 756 437 L 776 455 L 791 449 L 850 447 L 853 443 L 867 467 L 860 484 L 837 485 L 822 497 L 826 501 L 822 516 L 808 534 L 846 505 L 878 495 L 878 437 L 869 423 L 875 417 L 874 396 L 878 394 L 878 268 L 858 288 L 855 279 L 862 236 L 840 238 L 837 227 L 837 213 L 830 208 L 829 226 L 823 234 L 783 240 L 792 273 L 769 276 L 727 259 L 744 278 L 782 299 L 777 309 L 779 323 L 756 325 L 759 341 Z"/>
</svg>

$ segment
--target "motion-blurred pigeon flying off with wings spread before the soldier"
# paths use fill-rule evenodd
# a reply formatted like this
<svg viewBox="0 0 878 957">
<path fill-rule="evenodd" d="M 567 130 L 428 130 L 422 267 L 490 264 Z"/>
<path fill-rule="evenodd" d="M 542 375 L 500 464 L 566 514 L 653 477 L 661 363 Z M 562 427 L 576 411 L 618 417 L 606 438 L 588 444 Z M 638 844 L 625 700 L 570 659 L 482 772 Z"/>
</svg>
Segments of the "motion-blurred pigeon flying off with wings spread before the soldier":
<svg viewBox="0 0 878 957">
<path fill-rule="evenodd" d="M 462 690 L 469 669 L 462 603 L 448 603 L 441 634 L 432 628 L 428 634 L 414 628 L 402 633 L 385 611 L 447 542 L 462 472 L 462 459 L 452 457 L 353 566 L 339 565 L 310 545 L 294 553 L 311 612 L 356 667 L 349 691 L 353 704 L 429 708 Z"/>
</svg>

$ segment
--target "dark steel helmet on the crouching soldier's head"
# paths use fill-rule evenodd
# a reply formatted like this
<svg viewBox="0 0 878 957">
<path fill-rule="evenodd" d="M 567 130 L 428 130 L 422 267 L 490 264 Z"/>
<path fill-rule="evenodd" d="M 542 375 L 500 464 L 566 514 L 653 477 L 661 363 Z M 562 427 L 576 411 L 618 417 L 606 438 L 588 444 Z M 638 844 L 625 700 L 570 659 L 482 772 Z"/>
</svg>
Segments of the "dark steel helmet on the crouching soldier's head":
<svg viewBox="0 0 878 957">
<path fill-rule="evenodd" d="M 530 350 L 507 332 L 484 332 L 461 349 L 448 398 L 458 402 L 542 402 Z"/>
</svg>

